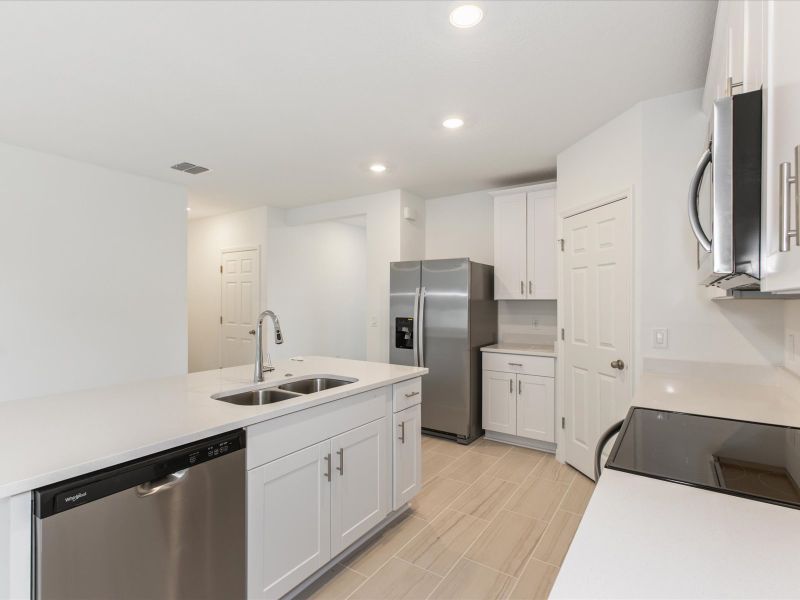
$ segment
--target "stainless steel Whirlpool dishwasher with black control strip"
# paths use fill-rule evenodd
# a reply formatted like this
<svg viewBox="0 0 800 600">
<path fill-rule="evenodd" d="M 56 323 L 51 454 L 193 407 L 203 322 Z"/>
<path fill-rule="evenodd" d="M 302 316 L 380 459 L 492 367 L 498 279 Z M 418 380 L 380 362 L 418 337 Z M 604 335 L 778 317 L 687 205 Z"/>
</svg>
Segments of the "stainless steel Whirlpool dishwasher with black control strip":
<svg viewBox="0 0 800 600">
<path fill-rule="evenodd" d="M 246 595 L 244 430 L 34 492 L 35 597 Z"/>
</svg>

